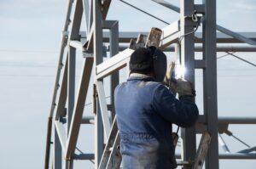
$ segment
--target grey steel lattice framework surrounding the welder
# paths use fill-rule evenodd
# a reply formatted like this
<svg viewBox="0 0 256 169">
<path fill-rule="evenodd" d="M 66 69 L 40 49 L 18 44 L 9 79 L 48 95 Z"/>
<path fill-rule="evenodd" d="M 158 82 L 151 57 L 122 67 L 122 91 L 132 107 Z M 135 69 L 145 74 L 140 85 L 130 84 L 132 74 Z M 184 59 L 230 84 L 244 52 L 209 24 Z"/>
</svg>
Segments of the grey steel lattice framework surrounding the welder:
<svg viewBox="0 0 256 169">
<path fill-rule="evenodd" d="M 204 114 L 200 115 L 196 127 L 183 129 L 183 161 L 193 160 L 196 152 L 196 133 L 207 130 L 212 134 L 212 142 L 207 154 L 206 168 L 217 169 L 218 159 L 256 159 L 256 154 L 250 150 L 240 154 L 218 154 L 218 126 L 222 124 L 256 124 L 255 118 L 218 118 L 217 101 L 217 52 L 241 51 L 255 52 L 255 34 L 238 34 L 216 24 L 216 0 L 204 0 L 195 4 L 194 0 L 180 0 L 180 8 L 163 0 L 153 0 L 166 8 L 170 8 L 180 17 L 176 22 L 162 28 L 163 35 L 160 49 L 175 51 L 177 61 L 185 66 L 185 79 L 195 83 L 195 69 L 203 70 Z M 51 109 L 45 153 L 45 168 L 49 166 L 52 156 L 53 168 L 73 168 L 73 159 L 94 160 L 98 168 L 104 150 L 108 144 L 113 126 L 113 89 L 119 84 L 118 71 L 128 69 L 131 48 L 122 43 L 129 43 L 131 38 L 137 38 L 139 33 L 119 32 L 118 20 L 106 20 L 111 0 L 69 0 L 67 17 L 62 31 L 61 52 L 55 79 L 55 87 Z M 73 18 L 70 19 L 73 11 Z M 196 13 L 195 13 L 196 11 Z M 86 30 L 80 31 L 82 16 L 85 16 Z M 201 20 L 195 21 L 193 14 Z M 201 22 L 202 33 L 195 32 L 195 27 Z M 108 30 L 103 34 L 102 30 Z M 219 32 L 217 32 L 218 30 Z M 249 36 L 249 37 L 248 37 Z M 110 59 L 103 61 L 103 42 L 109 43 Z M 218 42 L 247 43 L 246 46 L 218 46 Z M 200 43 L 200 46 L 195 46 Z M 75 94 L 75 57 L 76 50 L 82 51 L 84 57 L 79 87 Z M 195 52 L 203 54 L 202 59 L 195 59 Z M 111 104 L 106 102 L 103 78 L 111 76 Z M 84 104 L 90 85 L 94 81 L 94 105 L 92 117 L 83 117 Z M 111 111 L 111 114 L 108 111 Z M 76 144 L 81 124 L 94 121 L 95 153 L 75 155 Z M 52 128 L 53 127 L 53 128 Z M 113 126 L 114 127 L 114 126 Z M 51 133 L 53 131 L 53 133 Z M 53 136 L 53 137 L 51 137 Z M 112 136 L 113 137 L 113 136 Z M 53 155 L 49 155 L 50 142 L 53 139 Z M 105 138 L 105 139 L 104 139 Z M 115 136 L 114 136 L 115 138 Z M 116 138 L 118 141 L 118 138 Z M 110 156 L 110 158 L 112 158 Z M 177 158 L 181 158 L 177 155 Z M 63 162 L 65 161 L 65 162 Z M 64 165 L 63 165 L 64 164 Z M 112 168 L 113 166 L 108 166 Z M 189 168 L 189 166 L 183 166 Z M 100 168 L 105 168 L 101 166 Z"/>
</svg>

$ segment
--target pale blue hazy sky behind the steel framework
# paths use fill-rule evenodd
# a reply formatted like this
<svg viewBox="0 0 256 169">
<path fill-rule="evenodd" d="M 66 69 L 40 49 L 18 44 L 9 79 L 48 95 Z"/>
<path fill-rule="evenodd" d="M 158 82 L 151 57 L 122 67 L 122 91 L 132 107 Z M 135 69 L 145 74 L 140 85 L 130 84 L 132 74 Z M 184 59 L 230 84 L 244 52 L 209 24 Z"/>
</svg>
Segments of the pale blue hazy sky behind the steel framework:
<svg viewBox="0 0 256 169">
<path fill-rule="evenodd" d="M 172 23 L 178 14 L 149 0 L 129 1 Z M 177 0 L 168 2 L 179 5 Z M 196 1 L 201 3 L 201 1 Z M 217 22 L 232 31 L 255 31 L 256 2 L 218 0 Z M 61 47 L 61 31 L 67 1 L 0 1 L 0 168 L 43 168 L 44 149 L 55 73 Z M 120 31 L 148 31 L 166 25 L 113 0 L 108 20 L 119 20 Z M 132 24 L 131 24 L 132 23 Z M 85 27 L 82 25 L 82 27 Z M 199 29 L 200 31 L 200 29 Z M 218 56 L 224 53 L 218 53 Z M 237 53 L 256 64 L 255 54 Z M 200 54 L 196 54 L 200 57 Z M 174 58 L 174 54 L 170 55 Z M 77 58 L 76 84 L 82 56 Z M 202 112 L 201 70 L 196 71 L 197 104 Z M 232 57 L 218 59 L 218 115 L 256 116 L 256 69 Z M 108 95 L 106 93 L 106 95 Z M 85 104 L 90 103 L 87 100 Z M 90 113 L 90 105 L 85 113 Z M 230 131 L 255 146 L 255 125 L 230 125 Z M 224 135 L 231 152 L 246 147 Z M 93 151 L 93 127 L 81 127 L 79 149 Z M 222 149 L 219 152 L 223 153 Z M 254 169 L 256 161 L 220 161 L 220 168 Z M 91 164 L 75 161 L 77 168 Z"/>
</svg>

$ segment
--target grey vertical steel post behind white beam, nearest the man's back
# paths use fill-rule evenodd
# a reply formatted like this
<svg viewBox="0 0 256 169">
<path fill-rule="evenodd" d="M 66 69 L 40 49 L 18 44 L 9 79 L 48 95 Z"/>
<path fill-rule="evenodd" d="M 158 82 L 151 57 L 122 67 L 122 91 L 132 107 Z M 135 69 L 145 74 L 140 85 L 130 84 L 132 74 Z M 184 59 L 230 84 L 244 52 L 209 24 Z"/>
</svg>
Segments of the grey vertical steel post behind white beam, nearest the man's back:
<svg viewBox="0 0 256 169">
<path fill-rule="evenodd" d="M 109 37 L 109 44 L 110 44 L 110 57 L 114 56 L 115 54 L 119 53 L 119 22 L 116 21 L 113 26 L 111 27 Z M 115 115 L 114 112 L 114 101 L 113 101 L 113 93 L 115 87 L 119 84 L 119 72 L 113 73 L 110 77 L 110 95 L 111 95 L 111 105 L 112 105 L 112 121 Z"/>
</svg>

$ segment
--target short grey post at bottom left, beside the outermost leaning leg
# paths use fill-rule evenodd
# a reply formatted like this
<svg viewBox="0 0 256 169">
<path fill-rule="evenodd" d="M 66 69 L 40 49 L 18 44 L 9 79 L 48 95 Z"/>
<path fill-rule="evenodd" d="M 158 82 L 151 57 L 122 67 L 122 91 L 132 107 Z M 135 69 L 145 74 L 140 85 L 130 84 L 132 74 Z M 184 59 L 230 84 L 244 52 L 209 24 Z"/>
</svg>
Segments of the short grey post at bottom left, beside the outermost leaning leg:
<svg viewBox="0 0 256 169">
<path fill-rule="evenodd" d="M 56 131 L 56 128 L 54 130 L 54 161 L 53 161 L 53 168 L 54 169 L 60 169 L 61 168 L 61 163 L 62 163 L 62 158 L 61 158 L 61 142 L 58 137 L 58 133 Z"/>
</svg>

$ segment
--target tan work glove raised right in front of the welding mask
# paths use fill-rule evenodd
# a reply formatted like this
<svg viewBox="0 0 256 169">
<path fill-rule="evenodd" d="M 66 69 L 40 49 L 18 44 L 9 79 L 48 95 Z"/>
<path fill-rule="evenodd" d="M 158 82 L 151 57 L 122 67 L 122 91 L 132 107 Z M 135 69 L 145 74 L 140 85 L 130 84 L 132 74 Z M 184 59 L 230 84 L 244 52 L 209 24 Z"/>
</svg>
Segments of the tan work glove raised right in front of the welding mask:
<svg viewBox="0 0 256 169">
<path fill-rule="evenodd" d="M 174 77 L 174 68 L 175 68 L 175 63 L 171 62 L 170 65 L 168 66 L 166 70 L 166 76 L 164 79 L 164 84 L 169 87 L 170 91 L 176 95 L 177 93 L 177 80 Z"/>
</svg>

